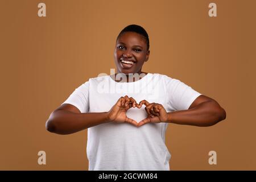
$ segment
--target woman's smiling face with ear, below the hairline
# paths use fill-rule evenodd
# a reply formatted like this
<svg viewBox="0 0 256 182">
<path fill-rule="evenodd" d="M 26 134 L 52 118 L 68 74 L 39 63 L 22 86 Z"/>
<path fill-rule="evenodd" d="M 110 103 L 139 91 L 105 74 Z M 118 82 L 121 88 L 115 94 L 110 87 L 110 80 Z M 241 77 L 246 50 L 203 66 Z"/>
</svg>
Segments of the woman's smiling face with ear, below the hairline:
<svg viewBox="0 0 256 182">
<path fill-rule="evenodd" d="M 115 44 L 114 60 L 117 73 L 138 73 L 148 60 L 150 51 L 147 51 L 147 42 L 136 32 L 125 32 Z"/>
</svg>

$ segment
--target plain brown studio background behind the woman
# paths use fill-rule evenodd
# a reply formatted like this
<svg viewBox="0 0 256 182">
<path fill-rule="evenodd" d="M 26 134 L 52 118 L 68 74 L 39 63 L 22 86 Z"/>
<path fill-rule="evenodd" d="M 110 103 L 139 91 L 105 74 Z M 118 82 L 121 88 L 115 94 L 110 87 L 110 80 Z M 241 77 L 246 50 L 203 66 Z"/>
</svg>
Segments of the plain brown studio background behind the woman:
<svg viewBox="0 0 256 182">
<path fill-rule="evenodd" d="M 46 17 L 38 17 L 38 3 Z M 217 17 L 208 16 L 210 2 Z M 128 24 L 150 36 L 143 71 L 177 78 L 226 110 L 212 127 L 169 125 L 173 170 L 256 169 L 255 1 L 1 1 L 0 169 L 87 170 L 87 131 L 57 135 L 45 123 L 90 77 L 115 68 Z M 38 151 L 47 164 L 38 164 Z M 208 152 L 217 152 L 209 165 Z"/>
</svg>

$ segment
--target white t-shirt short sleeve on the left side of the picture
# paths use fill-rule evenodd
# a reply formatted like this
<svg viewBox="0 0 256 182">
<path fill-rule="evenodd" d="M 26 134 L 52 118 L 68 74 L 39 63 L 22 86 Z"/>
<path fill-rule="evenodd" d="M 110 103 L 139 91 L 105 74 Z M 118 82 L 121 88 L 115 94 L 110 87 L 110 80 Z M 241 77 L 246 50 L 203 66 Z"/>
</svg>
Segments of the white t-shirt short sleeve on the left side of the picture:
<svg viewBox="0 0 256 182">
<path fill-rule="evenodd" d="M 73 93 L 62 104 L 76 106 L 81 113 L 89 111 L 89 81 L 76 88 Z M 62 105 L 61 104 L 61 105 Z"/>
</svg>

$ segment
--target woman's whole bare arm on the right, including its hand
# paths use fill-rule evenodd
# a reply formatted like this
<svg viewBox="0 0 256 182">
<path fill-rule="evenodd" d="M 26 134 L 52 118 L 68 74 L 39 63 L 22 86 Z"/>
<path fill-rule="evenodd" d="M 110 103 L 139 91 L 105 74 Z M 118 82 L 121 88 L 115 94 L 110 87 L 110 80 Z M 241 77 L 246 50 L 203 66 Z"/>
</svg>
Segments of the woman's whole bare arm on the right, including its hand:
<svg viewBox="0 0 256 182">
<path fill-rule="evenodd" d="M 148 117 L 142 119 L 138 126 L 146 123 L 168 122 L 179 125 L 193 126 L 212 126 L 226 118 L 226 111 L 212 98 L 199 96 L 187 110 L 179 110 L 167 113 L 163 105 L 158 103 L 149 103 L 146 100 L 139 102 L 139 108 L 142 104 L 146 105 L 145 110 Z"/>
</svg>

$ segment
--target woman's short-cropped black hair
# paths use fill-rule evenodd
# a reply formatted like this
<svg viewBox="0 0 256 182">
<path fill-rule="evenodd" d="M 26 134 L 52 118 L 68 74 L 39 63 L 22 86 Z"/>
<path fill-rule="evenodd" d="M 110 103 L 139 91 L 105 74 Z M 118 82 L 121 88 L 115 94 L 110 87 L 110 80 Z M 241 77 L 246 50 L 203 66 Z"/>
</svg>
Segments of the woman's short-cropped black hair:
<svg viewBox="0 0 256 182">
<path fill-rule="evenodd" d="M 123 28 L 123 30 L 119 33 L 119 35 L 117 36 L 117 39 L 125 32 L 136 32 L 137 34 L 140 34 L 143 36 L 143 38 L 146 39 L 147 42 L 147 51 L 149 49 L 149 39 L 148 39 L 148 34 L 146 32 L 146 30 L 142 27 L 139 26 L 137 24 L 130 24 L 129 26 Z M 117 40 L 116 40 L 117 42 Z"/>
</svg>

